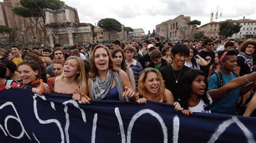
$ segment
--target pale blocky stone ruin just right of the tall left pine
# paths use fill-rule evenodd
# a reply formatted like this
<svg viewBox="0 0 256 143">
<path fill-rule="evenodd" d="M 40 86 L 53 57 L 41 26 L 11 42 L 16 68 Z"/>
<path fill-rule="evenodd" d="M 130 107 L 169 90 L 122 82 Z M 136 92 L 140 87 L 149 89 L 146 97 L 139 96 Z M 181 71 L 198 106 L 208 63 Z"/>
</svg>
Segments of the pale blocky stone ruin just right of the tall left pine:
<svg viewBox="0 0 256 143">
<path fill-rule="evenodd" d="M 79 23 L 77 10 L 63 6 L 60 10 L 44 9 L 46 34 L 50 46 L 55 43 L 62 45 L 85 45 L 93 42 L 90 24 Z"/>
</svg>

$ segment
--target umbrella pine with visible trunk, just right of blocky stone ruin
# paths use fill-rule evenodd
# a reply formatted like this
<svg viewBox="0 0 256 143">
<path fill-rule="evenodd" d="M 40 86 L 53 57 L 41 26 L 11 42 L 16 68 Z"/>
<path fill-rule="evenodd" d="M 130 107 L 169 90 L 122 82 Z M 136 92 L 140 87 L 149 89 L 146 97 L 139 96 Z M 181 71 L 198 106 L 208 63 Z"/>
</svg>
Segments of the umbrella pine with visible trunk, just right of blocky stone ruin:
<svg viewBox="0 0 256 143">
<path fill-rule="evenodd" d="M 113 18 L 105 18 L 100 19 L 98 22 L 98 26 L 100 28 L 103 28 L 104 31 L 109 32 L 109 40 L 111 41 L 110 32 L 111 31 L 122 31 L 122 24 L 120 24 L 116 19 Z"/>
</svg>

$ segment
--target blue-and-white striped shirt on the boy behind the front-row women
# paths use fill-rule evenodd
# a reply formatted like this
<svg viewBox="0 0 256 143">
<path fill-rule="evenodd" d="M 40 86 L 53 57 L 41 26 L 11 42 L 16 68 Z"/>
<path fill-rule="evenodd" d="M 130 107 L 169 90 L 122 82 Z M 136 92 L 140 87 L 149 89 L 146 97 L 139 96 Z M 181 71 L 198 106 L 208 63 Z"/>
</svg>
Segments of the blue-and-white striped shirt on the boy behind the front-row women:
<svg viewBox="0 0 256 143">
<path fill-rule="evenodd" d="M 128 65 L 127 61 L 125 61 L 125 62 L 126 62 L 126 65 Z M 142 65 L 140 65 L 139 62 L 137 62 L 136 60 L 133 59 L 133 63 L 130 65 L 129 68 L 131 68 L 133 71 L 135 85 L 136 85 L 136 92 L 138 92 L 139 76 L 140 76 L 140 74 L 142 74 L 142 70 L 143 70 Z"/>
</svg>

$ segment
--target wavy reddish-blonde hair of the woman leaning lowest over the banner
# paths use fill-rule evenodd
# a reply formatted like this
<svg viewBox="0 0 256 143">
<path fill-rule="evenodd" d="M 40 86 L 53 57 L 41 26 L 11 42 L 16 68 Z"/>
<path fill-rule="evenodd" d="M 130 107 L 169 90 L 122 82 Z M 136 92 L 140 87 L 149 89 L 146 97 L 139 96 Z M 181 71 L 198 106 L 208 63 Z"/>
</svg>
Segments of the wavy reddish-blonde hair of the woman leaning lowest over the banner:
<svg viewBox="0 0 256 143">
<path fill-rule="evenodd" d="M 161 73 L 154 68 L 146 68 L 142 71 L 142 74 L 140 75 L 139 81 L 138 81 L 139 94 L 143 95 L 143 96 L 146 94 L 147 89 L 144 86 L 144 83 L 145 83 L 148 73 L 156 73 L 159 78 L 159 82 L 160 82 L 159 90 L 158 90 L 157 94 L 154 95 L 154 97 L 152 98 L 153 101 L 160 101 L 161 99 L 163 99 L 163 101 L 165 101 L 166 96 L 165 96 L 164 80 L 163 80 L 163 77 L 161 76 Z"/>
</svg>

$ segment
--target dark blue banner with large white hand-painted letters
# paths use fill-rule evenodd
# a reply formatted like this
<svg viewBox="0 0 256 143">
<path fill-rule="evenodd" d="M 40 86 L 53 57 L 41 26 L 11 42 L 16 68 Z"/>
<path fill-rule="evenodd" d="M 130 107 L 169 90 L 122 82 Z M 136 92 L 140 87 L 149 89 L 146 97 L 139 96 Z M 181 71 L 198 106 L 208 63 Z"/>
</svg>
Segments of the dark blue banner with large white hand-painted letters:
<svg viewBox="0 0 256 143">
<path fill-rule="evenodd" d="M 194 113 L 172 105 L 0 91 L 0 142 L 255 142 L 256 119 Z"/>
</svg>

